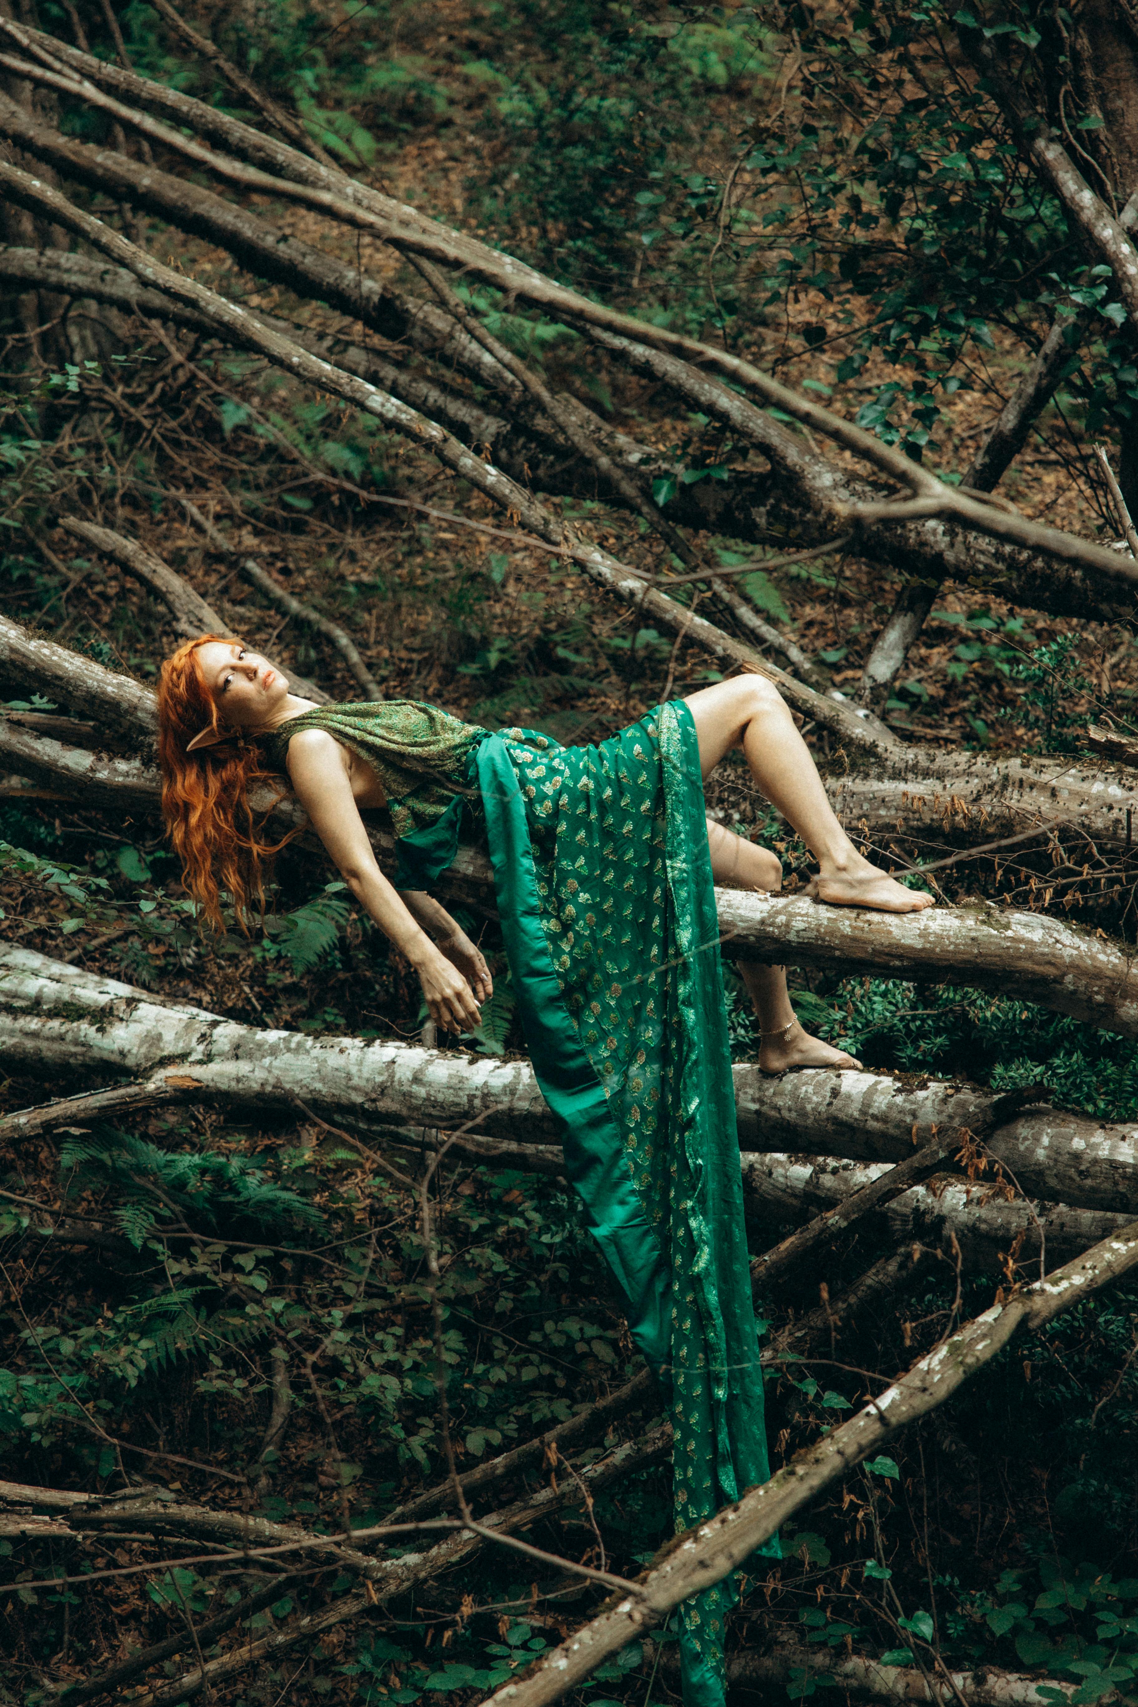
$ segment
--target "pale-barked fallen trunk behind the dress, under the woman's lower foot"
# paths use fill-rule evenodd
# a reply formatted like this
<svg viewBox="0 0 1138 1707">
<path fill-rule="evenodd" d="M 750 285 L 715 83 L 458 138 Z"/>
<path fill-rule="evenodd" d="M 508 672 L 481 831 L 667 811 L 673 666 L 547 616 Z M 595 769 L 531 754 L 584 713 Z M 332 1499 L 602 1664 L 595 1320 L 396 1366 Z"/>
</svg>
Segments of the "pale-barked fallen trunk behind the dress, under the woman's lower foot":
<svg viewBox="0 0 1138 1707">
<path fill-rule="evenodd" d="M 558 1128 L 529 1062 L 425 1050 L 408 1043 L 312 1038 L 258 1031 L 184 1004 L 157 1002 L 145 990 L 43 954 L 0 947 L 0 1062 L 10 1072 L 85 1081 L 128 1075 L 142 1084 L 31 1110 L 0 1121 L 0 1139 L 34 1137 L 55 1120 L 99 1118 L 131 1106 L 195 1098 L 225 1104 L 295 1108 L 300 1098 L 333 1118 L 391 1127 L 454 1128 L 476 1123 L 505 1142 L 467 1154 L 507 1166 L 558 1173 Z M 90 1092 L 89 1092 L 90 1094 Z M 735 1067 L 744 1188 L 756 1214 L 798 1219 L 843 1202 L 877 1174 L 853 1161 L 839 1169 L 816 1156 L 787 1156 L 788 1144 L 834 1157 L 904 1161 L 940 1133 L 983 1137 L 1020 1190 L 1075 1210 L 1133 1214 L 1138 1209 L 1138 1128 L 1102 1125 L 1054 1108 L 1019 1108 L 1017 1098 L 925 1084 L 908 1087 L 865 1072 L 787 1074 L 766 1079 Z M 519 1144 L 519 1137 L 525 1144 Z M 537 1147 L 537 1149 L 534 1149 Z M 993 1178 L 991 1174 L 988 1178 Z M 988 1227 L 986 1239 L 1010 1243 L 1022 1205 L 979 1207 L 976 1186 L 932 1186 L 897 1198 L 885 1214 L 904 1238 L 914 1227 L 950 1221 Z M 969 1197 L 971 1191 L 971 1197 Z M 1068 1210 L 1054 1215 L 1068 1215 Z M 986 1219 L 984 1219 L 986 1217 Z M 1031 1219 L 1031 1217 L 1029 1217 Z M 1054 1239 L 1083 1244 L 1102 1222 L 1054 1221 Z"/>
</svg>

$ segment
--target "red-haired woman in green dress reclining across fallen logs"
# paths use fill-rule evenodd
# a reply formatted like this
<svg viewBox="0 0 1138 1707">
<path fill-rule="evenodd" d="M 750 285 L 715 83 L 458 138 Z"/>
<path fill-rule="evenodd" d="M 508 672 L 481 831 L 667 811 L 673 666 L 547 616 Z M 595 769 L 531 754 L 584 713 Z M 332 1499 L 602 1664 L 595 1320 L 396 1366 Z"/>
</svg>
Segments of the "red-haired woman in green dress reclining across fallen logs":
<svg viewBox="0 0 1138 1707">
<path fill-rule="evenodd" d="M 776 690 L 759 676 L 722 681 L 601 746 L 566 749 L 416 702 L 316 707 L 256 652 L 206 635 L 164 666 L 159 724 L 164 811 L 206 915 L 220 923 L 218 884 L 242 917 L 259 896 L 270 850 L 246 790 L 285 773 L 355 898 L 415 966 L 433 1021 L 456 1033 L 478 1022 L 490 973 L 425 889 L 461 836 L 485 840 L 566 1174 L 631 1333 L 671 1389 L 677 1528 L 764 1482 L 713 883 L 776 889 L 780 864 L 706 821 L 703 778 L 742 744 L 819 860 L 807 894 L 885 912 L 932 903 L 855 852 Z M 394 884 L 360 807 L 391 816 Z M 744 978 L 764 1070 L 853 1065 L 798 1026 L 781 968 L 744 966 Z M 723 1698 L 730 1593 L 718 1584 L 684 1608 L 684 1695 L 700 1707 Z"/>
</svg>

